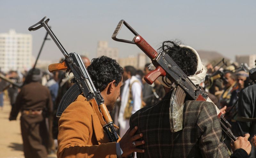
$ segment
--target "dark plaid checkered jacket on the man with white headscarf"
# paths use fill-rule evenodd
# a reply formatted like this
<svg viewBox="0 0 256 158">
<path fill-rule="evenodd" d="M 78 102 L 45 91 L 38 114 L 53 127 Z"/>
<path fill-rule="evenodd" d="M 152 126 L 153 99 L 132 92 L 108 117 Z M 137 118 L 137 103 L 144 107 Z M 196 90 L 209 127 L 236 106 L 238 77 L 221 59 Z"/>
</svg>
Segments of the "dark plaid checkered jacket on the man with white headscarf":
<svg viewBox="0 0 256 158">
<path fill-rule="evenodd" d="M 130 128 L 138 126 L 136 133 L 143 133 L 145 144 L 138 148 L 137 158 L 181 158 L 181 157 L 229 157 L 220 142 L 220 122 L 215 106 L 210 102 L 186 101 L 183 113 L 183 129 L 172 133 L 169 123 L 171 93 L 165 95 L 154 106 L 144 107 L 130 118 Z"/>
</svg>

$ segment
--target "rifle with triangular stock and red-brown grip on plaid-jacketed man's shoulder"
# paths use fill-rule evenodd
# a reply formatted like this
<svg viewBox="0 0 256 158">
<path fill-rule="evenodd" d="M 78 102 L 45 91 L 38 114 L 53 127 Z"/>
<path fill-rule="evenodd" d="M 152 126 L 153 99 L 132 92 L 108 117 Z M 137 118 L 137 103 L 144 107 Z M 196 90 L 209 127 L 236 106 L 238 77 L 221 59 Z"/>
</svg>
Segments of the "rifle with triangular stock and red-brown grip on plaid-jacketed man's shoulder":
<svg viewBox="0 0 256 158">
<path fill-rule="evenodd" d="M 118 39 L 116 35 L 119 33 L 123 24 L 135 35 L 132 41 Z M 145 76 L 145 81 L 148 84 L 152 84 L 159 76 L 166 76 L 170 81 L 172 81 L 172 87 L 176 94 L 179 94 L 183 99 L 178 102 L 184 102 L 185 96 L 188 95 L 191 100 L 196 101 L 210 101 L 204 90 L 201 87 L 196 86 L 188 76 L 180 69 L 180 67 L 172 60 L 172 58 L 167 54 L 157 53 L 148 42 L 146 42 L 130 25 L 128 25 L 124 20 L 121 20 L 112 35 L 112 39 L 115 41 L 136 44 L 152 61 L 152 64 L 156 67 L 155 70 L 149 72 Z M 181 94 L 181 95 L 180 95 Z M 178 97 L 177 97 L 178 98 Z M 183 100 L 183 101 L 182 101 Z M 231 125 L 222 116 L 220 110 L 216 107 L 218 117 L 220 119 L 221 129 L 227 136 L 235 141 L 236 137 L 231 132 Z"/>
</svg>

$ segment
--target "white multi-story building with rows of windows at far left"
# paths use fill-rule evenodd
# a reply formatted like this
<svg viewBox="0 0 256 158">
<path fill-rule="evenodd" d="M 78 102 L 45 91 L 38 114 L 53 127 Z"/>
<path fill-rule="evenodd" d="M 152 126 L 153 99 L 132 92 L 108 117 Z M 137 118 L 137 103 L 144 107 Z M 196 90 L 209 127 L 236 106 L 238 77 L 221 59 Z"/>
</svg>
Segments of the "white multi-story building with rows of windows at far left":
<svg viewBox="0 0 256 158">
<path fill-rule="evenodd" d="M 1 71 L 24 71 L 31 68 L 32 35 L 19 34 L 11 29 L 0 34 Z"/>
</svg>

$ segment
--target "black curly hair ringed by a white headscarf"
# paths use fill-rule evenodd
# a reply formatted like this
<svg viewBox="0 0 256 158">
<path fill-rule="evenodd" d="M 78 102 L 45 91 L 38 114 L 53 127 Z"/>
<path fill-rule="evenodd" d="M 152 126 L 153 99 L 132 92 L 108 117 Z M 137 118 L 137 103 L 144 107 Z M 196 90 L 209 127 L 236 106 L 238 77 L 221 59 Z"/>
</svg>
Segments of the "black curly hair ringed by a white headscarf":
<svg viewBox="0 0 256 158">
<path fill-rule="evenodd" d="M 157 51 L 168 54 L 186 75 L 190 76 L 196 73 L 196 54 L 191 49 L 180 47 L 180 42 L 164 41 L 162 47 Z"/>
</svg>

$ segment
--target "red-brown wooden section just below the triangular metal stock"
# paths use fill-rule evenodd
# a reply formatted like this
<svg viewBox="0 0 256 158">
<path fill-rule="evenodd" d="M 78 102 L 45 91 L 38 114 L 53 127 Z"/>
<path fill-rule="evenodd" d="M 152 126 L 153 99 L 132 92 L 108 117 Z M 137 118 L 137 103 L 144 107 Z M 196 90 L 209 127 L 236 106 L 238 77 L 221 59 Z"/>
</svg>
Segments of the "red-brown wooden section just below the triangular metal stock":
<svg viewBox="0 0 256 158">
<path fill-rule="evenodd" d="M 135 36 L 133 41 L 150 59 L 154 59 L 157 56 L 158 53 L 156 50 L 152 48 L 141 36 Z"/>
</svg>

